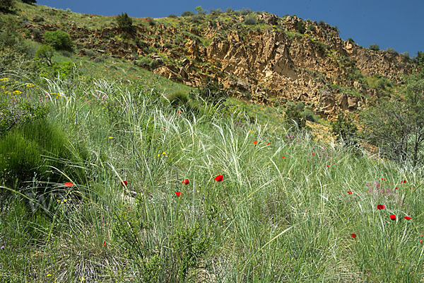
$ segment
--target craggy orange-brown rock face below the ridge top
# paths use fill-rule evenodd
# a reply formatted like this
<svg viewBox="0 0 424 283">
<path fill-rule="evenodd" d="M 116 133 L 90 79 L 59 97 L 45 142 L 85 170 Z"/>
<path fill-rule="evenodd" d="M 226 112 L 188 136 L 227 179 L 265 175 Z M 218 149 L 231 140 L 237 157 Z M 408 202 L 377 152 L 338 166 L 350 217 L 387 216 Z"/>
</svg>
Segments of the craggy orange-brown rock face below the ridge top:
<svg viewBox="0 0 424 283">
<path fill-rule="evenodd" d="M 244 25 L 244 19 L 233 16 L 230 21 L 218 18 L 198 24 L 178 20 L 177 27 L 136 25 L 134 43 L 118 40 L 117 27 L 93 31 L 71 26 L 69 33 L 85 49 L 130 60 L 150 56 L 161 63 L 155 65 L 155 73 L 187 86 L 199 86 L 211 77 L 235 96 L 250 93 L 251 100 L 259 103 L 302 100 L 330 116 L 356 110 L 366 97 L 379 96 L 361 77 L 380 74 L 397 81 L 399 74 L 411 74 L 414 67 L 397 53 L 343 41 L 338 30 L 326 23 L 257 13 L 259 28 Z M 182 28 L 187 32 L 182 33 Z M 151 47 L 158 53 L 153 57 Z"/>
</svg>

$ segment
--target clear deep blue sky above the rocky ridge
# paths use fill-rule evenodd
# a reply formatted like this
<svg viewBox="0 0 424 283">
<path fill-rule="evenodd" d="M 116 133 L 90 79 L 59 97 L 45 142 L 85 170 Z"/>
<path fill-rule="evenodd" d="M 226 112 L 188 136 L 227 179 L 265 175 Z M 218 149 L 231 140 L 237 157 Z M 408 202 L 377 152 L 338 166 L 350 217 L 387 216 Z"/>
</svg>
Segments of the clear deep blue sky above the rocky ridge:
<svg viewBox="0 0 424 283">
<path fill-rule="evenodd" d="M 131 17 L 160 18 L 174 13 L 181 15 L 196 6 L 250 8 L 278 16 L 297 15 L 312 21 L 337 25 L 341 38 L 352 37 L 365 47 L 373 43 L 380 49 L 394 48 L 397 52 L 424 51 L 424 32 L 420 20 L 424 16 L 423 0 L 281 0 L 281 1 L 144 1 L 144 0 L 37 0 L 37 4 L 66 9 L 77 13 L 113 16 L 122 12 Z"/>
</svg>

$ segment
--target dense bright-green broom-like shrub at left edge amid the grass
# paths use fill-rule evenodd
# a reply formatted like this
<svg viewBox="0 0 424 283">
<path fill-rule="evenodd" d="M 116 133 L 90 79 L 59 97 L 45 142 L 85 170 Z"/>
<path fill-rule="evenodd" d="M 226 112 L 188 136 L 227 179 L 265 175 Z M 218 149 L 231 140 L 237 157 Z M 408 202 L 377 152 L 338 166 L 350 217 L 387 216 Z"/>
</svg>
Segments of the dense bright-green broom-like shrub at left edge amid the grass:
<svg viewBox="0 0 424 283">
<path fill-rule="evenodd" d="M 62 160 L 79 161 L 68 148 L 69 137 L 59 126 L 45 119 L 33 120 L 14 127 L 0 139 L 0 171 L 6 172 L 6 185 L 18 189 L 23 182 L 50 180 L 54 183 L 67 180 L 54 168 L 69 175 L 74 181 L 83 180 L 81 168 L 68 166 Z M 45 158 L 42 155 L 52 158 Z M 84 156 L 86 157 L 86 156 Z"/>
</svg>

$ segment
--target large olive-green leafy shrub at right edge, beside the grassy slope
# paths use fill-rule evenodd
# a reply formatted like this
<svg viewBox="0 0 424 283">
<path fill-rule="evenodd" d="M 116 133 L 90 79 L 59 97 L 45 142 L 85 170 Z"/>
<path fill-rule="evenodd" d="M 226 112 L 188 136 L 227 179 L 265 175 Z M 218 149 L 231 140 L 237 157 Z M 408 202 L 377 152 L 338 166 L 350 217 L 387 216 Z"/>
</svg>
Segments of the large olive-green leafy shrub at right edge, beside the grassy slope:
<svg viewBox="0 0 424 283">
<path fill-rule="evenodd" d="M 406 78 L 404 99 L 380 98 L 360 114 L 367 142 L 383 156 L 413 167 L 424 164 L 424 76 Z"/>
</svg>

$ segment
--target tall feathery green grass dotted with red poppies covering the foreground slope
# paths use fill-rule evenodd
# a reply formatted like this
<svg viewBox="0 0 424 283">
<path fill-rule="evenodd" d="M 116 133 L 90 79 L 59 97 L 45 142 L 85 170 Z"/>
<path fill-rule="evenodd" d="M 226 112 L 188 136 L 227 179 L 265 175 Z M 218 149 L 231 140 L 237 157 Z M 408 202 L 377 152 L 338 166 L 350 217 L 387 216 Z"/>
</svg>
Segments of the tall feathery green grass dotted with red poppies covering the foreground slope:
<svg viewBox="0 0 424 283">
<path fill-rule="evenodd" d="M 46 80 L 38 87 L 63 93 L 49 96 L 45 119 L 88 154 L 86 162 L 61 160 L 59 174 L 78 168 L 85 178 L 50 184 L 81 194 L 45 195 L 52 202 L 42 210 L 32 209 L 40 199 L 31 206 L 16 192 L 2 195 L 4 282 L 419 282 L 424 275 L 419 171 L 318 144 L 307 132 L 235 123 L 220 115 L 224 105 L 201 99 L 199 114 L 179 111 L 152 86 Z"/>
</svg>

